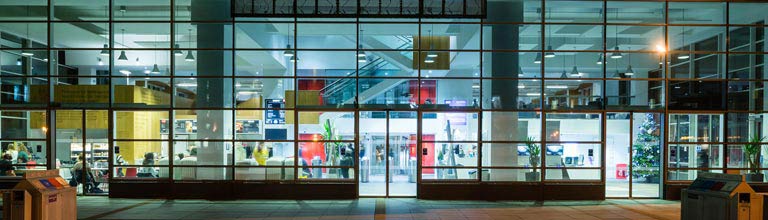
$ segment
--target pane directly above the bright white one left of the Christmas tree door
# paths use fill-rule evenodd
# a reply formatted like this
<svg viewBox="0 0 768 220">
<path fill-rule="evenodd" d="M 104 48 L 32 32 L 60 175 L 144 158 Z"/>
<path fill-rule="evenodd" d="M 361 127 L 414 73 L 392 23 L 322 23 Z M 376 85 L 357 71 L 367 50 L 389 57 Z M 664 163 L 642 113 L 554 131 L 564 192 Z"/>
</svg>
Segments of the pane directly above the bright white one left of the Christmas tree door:
<svg viewBox="0 0 768 220">
<path fill-rule="evenodd" d="M 544 108 L 602 109 L 603 81 L 597 80 L 547 80 L 544 84 Z"/>
</svg>

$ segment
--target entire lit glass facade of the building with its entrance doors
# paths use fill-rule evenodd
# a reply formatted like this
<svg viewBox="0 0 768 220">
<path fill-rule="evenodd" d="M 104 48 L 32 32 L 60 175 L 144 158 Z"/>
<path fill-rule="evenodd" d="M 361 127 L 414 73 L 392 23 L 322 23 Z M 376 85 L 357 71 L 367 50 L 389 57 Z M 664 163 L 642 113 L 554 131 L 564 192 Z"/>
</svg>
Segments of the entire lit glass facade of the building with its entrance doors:
<svg viewBox="0 0 768 220">
<path fill-rule="evenodd" d="M 61 168 L 85 194 L 220 181 L 354 184 L 361 196 L 597 184 L 607 197 L 662 197 L 699 172 L 768 174 L 768 140 L 753 138 L 768 132 L 767 3 L 503 0 L 462 17 L 424 1 L 430 10 L 401 17 L 307 15 L 324 7 L 311 5 L 253 16 L 262 4 L 0 3 L 2 151 L 17 173 Z"/>
</svg>

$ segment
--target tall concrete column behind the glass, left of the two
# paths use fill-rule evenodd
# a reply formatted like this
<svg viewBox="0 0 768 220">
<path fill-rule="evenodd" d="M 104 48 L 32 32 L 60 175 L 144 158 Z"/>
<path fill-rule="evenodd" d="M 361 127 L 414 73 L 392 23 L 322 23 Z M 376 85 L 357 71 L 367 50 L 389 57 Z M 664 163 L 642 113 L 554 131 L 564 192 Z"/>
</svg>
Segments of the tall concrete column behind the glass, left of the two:
<svg viewBox="0 0 768 220">
<path fill-rule="evenodd" d="M 229 1 L 193 0 L 192 17 L 201 20 L 228 20 Z M 198 48 L 225 48 L 232 44 L 232 27 L 222 23 L 197 23 Z M 184 30 L 176 30 L 183 33 Z M 225 108 L 232 106 L 232 54 L 224 51 L 197 51 L 198 78 L 196 108 Z M 179 61 L 177 61 L 179 62 Z M 184 62 L 184 61 L 181 61 Z M 198 139 L 229 139 L 232 134 L 232 112 L 221 110 L 197 110 Z M 233 146 L 230 143 L 209 142 L 198 146 L 198 165 L 221 165 L 232 163 Z M 197 169 L 198 179 L 225 179 L 225 168 Z"/>
</svg>

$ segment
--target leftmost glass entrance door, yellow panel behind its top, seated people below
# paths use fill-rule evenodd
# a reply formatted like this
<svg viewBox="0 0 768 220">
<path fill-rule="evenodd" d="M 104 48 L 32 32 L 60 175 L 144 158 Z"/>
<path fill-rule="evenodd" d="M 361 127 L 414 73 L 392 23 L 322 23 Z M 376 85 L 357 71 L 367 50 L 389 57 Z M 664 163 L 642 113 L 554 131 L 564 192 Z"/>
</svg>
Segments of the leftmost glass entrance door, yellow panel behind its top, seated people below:
<svg viewBox="0 0 768 220">
<path fill-rule="evenodd" d="M 108 192 L 109 142 L 106 110 L 55 111 L 56 168 L 78 194 Z"/>
</svg>

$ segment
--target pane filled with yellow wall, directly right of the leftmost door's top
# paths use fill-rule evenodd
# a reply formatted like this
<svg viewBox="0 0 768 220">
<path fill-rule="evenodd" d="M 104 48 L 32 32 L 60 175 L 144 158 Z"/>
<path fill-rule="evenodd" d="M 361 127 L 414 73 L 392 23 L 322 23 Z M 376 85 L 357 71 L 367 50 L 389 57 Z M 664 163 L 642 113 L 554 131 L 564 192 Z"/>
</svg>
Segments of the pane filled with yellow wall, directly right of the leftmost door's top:
<svg viewBox="0 0 768 220">
<path fill-rule="evenodd" d="M 120 140 L 168 139 L 169 129 L 177 129 L 167 111 L 115 111 L 114 117 L 114 138 Z"/>
</svg>

